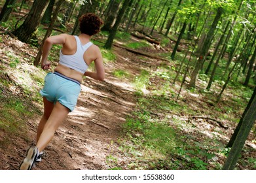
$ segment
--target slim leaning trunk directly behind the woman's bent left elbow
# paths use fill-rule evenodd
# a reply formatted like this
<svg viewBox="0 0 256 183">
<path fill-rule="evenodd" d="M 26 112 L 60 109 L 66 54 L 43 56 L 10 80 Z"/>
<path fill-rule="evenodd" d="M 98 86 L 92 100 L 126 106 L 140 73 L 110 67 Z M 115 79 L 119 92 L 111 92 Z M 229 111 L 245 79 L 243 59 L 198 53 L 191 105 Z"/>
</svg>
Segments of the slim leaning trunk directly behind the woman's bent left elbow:
<svg viewBox="0 0 256 183">
<path fill-rule="evenodd" d="M 40 62 L 40 59 L 41 59 L 41 56 L 42 56 L 42 52 L 43 52 L 43 44 L 45 43 L 45 40 L 50 36 L 50 34 L 52 33 L 52 29 L 54 27 L 54 24 L 57 20 L 57 17 L 58 17 L 58 13 L 60 12 L 60 7 L 62 5 L 62 3 L 64 3 L 65 0 L 58 0 L 57 4 L 56 4 L 56 8 L 54 10 L 54 14 L 52 16 L 52 20 L 50 22 L 50 25 L 45 33 L 45 37 L 41 43 L 41 46 L 39 48 L 39 52 L 37 53 L 37 56 L 35 57 L 35 61 L 33 62 L 33 64 L 35 66 L 39 65 L 39 62 Z"/>
</svg>

